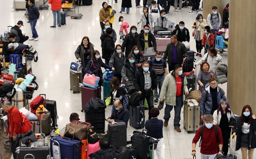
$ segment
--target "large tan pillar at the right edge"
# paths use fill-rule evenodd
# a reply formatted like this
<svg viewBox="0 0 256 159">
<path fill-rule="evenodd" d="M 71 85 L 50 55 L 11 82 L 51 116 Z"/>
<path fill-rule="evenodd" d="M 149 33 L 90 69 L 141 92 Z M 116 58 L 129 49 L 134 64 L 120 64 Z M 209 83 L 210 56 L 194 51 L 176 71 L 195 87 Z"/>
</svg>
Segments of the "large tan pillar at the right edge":
<svg viewBox="0 0 256 159">
<path fill-rule="evenodd" d="M 256 114 L 256 3 L 230 0 L 229 6 L 227 99 L 235 114 L 241 115 L 246 104 Z"/>
</svg>

